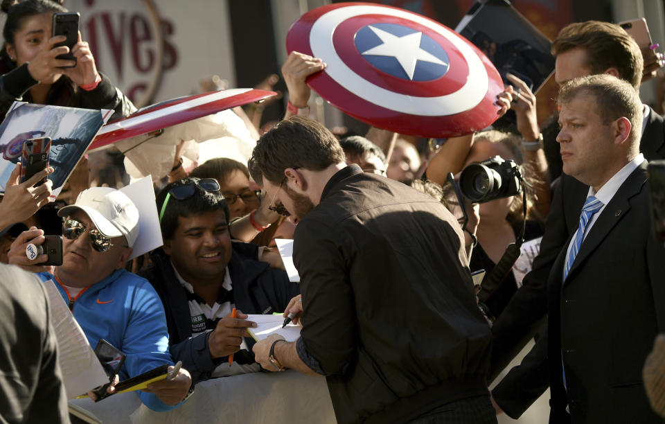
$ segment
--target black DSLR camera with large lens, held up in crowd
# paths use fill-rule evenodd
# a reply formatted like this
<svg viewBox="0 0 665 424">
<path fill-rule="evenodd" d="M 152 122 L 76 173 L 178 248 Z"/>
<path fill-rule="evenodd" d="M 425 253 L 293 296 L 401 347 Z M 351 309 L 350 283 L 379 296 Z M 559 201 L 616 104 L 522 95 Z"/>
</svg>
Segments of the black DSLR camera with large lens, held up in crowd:
<svg viewBox="0 0 665 424">
<path fill-rule="evenodd" d="M 517 195 L 522 192 L 522 168 L 515 161 L 490 157 L 464 168 L 459 186 L 462 194 L 475 203 Z"/>
</svg>

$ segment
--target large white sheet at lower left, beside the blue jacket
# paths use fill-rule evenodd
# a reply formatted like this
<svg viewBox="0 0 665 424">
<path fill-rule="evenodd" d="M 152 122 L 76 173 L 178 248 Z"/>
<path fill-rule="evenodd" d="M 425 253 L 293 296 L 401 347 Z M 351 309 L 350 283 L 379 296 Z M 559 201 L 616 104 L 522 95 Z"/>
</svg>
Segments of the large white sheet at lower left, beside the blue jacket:
<svg viewBox="0 0 665 424">
<path fill-rule="evenodd" d="M 44 287 L 48 293 L 51 324 L 57 337 L 57 360 L 60 362 L 64 388 L 67 398 L 73 399 L 106 384 L 109 378 L 53 280 L 46 281 Z"/>
</svg>

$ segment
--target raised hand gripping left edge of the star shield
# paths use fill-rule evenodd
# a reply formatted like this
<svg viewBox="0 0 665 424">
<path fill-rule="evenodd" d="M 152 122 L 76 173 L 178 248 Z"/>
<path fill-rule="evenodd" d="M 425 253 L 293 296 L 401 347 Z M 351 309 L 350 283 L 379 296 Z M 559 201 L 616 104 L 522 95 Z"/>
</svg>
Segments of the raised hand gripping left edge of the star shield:
<svg viewBox="0 0 665 424">
<path fill-rule="evenodd" d="M 298 108 L 307 107 L 310 100 L 310 87 L 305 83 L 308 76 L 326 69 L 319 58 L 292 51 L 282 65 L 282 75 L 289 90 L 289 101 Z"/>
</svg>

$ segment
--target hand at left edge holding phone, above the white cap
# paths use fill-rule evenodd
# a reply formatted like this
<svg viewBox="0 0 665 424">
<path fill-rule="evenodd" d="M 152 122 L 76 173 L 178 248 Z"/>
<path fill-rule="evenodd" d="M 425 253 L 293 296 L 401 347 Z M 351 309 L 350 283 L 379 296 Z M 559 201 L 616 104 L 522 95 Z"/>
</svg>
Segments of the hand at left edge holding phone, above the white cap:
<svg viewBox="0 0 665 424">
<path fill-rule="evenodd" d="M 7 227 L 14 222 L 26 220 L 34 215 L 39 208 L 48 203 L 51 196 L 53 182 L 47 180 L 44 184 L 33 187 L 37 182 L 52 174 L 53 168 L 40 170 L 26 182 L 19 183 L 21 177 L 21 164 L 17 164 L 12 175 L 7 180 L 5 196 L 0 203 L 0 228 Z"/>
</svg>

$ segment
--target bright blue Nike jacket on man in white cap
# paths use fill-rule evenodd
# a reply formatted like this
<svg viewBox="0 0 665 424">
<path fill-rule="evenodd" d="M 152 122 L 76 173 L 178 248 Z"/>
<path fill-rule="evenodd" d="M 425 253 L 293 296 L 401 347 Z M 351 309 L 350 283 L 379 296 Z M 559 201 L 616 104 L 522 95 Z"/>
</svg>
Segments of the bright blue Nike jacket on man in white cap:
<svg viewBox="0 0 665 424">
<path fill-rule="evenodd" d="M 148 280 L 125 270 L 116 270 L 71 298 L 53 274 L 42 272 L 37 275 L 42 281 L 55 281 L 55 287 L 69 304 L 92 348 L 97 346 L 99 339 L 106 339 L 127 355 L 120 371 L 121 381 L 163 364 L 173 364 L 168 353 L 164 308 Z M 139 391 L 139 397 L 145 406 L 158 412 L 180 405 L 167 405 L 154 394 L 143 391 Z"/>
</svg>

